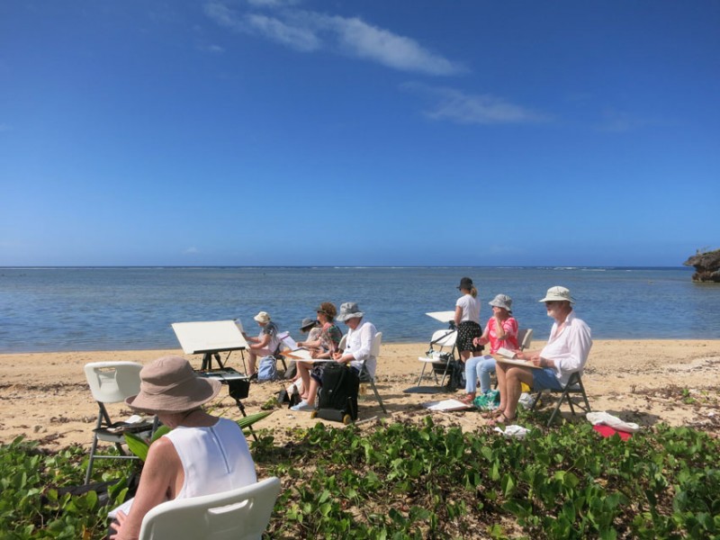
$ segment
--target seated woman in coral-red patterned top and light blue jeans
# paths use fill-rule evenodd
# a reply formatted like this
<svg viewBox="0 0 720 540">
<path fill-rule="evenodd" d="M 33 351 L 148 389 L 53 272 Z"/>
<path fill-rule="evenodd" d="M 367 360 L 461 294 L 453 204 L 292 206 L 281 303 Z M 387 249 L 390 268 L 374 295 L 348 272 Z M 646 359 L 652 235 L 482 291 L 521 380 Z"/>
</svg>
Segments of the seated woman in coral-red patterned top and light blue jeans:
<svg viewBox="0 0 720 540">
<path fill-rule="evenodd" d="M 498 294 L 491 300 L 492 317 L 485 325 L 480 338 L 475 338 L 476 346 L 490 343 L 490 354 L 494 355 L 500 347 L 511 351 L 518 348 L 518 321 L 512 316 L 512 298 L 507 294 Z M 473 356 L 465 362 L 465 403 L 472 403 L 480 379 L 480 392 L 490 390 L 490 375 L 495 373 L 495 360 L 484 356 Z M 500 402 L 500 406 L 502 406 Z"/>
</svg>

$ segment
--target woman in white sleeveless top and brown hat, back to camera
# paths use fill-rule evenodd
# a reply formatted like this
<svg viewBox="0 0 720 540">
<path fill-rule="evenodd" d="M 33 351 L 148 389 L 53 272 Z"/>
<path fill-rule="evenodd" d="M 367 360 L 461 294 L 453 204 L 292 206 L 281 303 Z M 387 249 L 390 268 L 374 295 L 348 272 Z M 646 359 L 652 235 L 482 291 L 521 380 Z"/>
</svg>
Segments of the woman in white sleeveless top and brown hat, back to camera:
<svg viewBox="0 0 720 540">
<path fill-rule="evenodd" d="M 157 414 L 172 431 L 150 445 L 135 498 L 110 512 L 112 540 L 138 538 L 142 519 L 161 502 L 257 482 L 242 429 L 202 410 L 220 391 L 219 381 L 199 377 L 180 356 L 146 365 L 140 381 L 139 394 L 125 401 L 134 410 Z"/>
</svg>

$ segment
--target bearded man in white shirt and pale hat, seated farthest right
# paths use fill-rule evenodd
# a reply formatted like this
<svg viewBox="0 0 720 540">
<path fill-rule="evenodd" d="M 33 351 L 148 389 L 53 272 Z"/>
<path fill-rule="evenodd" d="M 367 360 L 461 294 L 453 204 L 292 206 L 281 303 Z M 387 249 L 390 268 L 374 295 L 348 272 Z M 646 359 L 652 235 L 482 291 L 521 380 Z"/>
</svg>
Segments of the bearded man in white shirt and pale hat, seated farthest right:
<svg viewBox="0 0 720 540">
<path fill-rule="evenodd" d="M 582 373 L 592 338 L 590 327 L 584 320 L 578 319 L 572 304 L 575 300 L 565 287 L 551 287 L 545 298 L 547 316 L 554 319 L 553 328 L 547 345 L 540 352 L 519 351 L 518 358 L 532 362 L 540 369 L 521 367 L 498 362 L 498 388 L 502 408 L 496 411 L 497 418 L 491 424 L 502 424 L 514 420 L 520 399 L 520 383 L 526 383 L 534 391 L 563 390 L 570 376 Z"/>
</svg>

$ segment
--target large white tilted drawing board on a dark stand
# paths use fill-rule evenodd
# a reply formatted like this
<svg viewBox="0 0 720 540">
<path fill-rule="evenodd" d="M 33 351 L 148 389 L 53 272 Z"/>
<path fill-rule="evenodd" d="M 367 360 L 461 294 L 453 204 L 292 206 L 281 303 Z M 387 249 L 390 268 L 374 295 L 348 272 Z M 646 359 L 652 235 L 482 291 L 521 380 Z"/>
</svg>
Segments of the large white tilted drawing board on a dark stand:
<svg viewBox="0 0 720 540">
<path fill-rule="evenodd" d="M 240 351 L 242 355 L 247 348 L 247 341 L 234 320 L 174 322 L 171 326 L 184 354 L 202 355 L 202 370 L 211 369 L 213 357 L 222 369 L 220 353 Z M 245 365 L 244 355 L 242 361 Z"/>
</svg>

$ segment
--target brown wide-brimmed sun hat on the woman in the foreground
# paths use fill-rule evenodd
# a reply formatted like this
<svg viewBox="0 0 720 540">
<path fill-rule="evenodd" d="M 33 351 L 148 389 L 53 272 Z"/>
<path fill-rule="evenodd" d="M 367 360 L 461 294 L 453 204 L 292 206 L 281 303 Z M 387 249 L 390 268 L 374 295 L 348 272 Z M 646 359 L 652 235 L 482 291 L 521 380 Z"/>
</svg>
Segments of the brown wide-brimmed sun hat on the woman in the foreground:
<svg viewBox="0 0 720 540">
<path fill-rule="evenodd" d="M 125 402 L 148 412 L 184 412 L 211 401 L 220 386 L 220 381 L 196 374 L 184 358 L 163 356 L 140 370 L 140 392 Z"/>
</svg>

